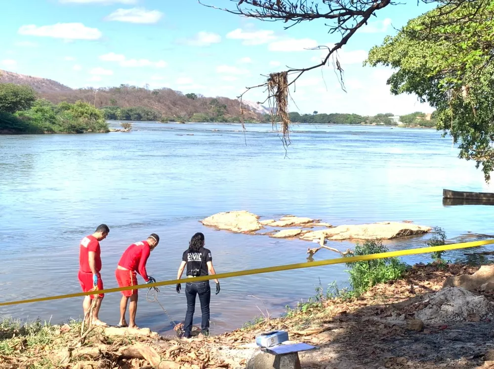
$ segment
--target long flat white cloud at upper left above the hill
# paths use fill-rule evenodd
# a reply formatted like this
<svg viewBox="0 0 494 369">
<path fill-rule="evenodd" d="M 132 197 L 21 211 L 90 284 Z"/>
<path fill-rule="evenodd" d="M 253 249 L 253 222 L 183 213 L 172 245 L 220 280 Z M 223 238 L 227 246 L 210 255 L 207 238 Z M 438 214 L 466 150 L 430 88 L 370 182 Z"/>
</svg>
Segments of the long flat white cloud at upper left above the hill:
<svg viewBox="0 0 494 369">
<path fill-rule="evenodd" d="M 21 26 L 18 33 L 26 36 L 53 37 L 66 40 L 95 40 L 102 36 L 101 31 L 97 28 L 89 28 L 82 23 L 57 23 L 51 26 L 40 27 L 30 24 Z"/>
</svg>

